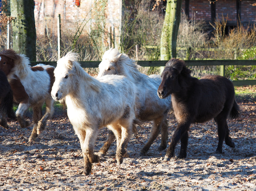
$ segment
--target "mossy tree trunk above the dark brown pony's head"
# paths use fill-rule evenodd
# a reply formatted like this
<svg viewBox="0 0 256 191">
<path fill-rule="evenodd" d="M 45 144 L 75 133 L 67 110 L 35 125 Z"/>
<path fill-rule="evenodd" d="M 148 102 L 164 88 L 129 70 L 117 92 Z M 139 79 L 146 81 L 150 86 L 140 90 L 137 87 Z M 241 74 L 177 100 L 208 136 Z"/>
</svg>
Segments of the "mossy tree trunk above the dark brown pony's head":
<svg viewBox="0 0 256 191">
<path fill-rule="evenodd" d="M 176 41 L 178 36 L 182 0 L 167 0 L 164 26 L 161 34 L 161 60 L 176 58 Z"/>
</svg>

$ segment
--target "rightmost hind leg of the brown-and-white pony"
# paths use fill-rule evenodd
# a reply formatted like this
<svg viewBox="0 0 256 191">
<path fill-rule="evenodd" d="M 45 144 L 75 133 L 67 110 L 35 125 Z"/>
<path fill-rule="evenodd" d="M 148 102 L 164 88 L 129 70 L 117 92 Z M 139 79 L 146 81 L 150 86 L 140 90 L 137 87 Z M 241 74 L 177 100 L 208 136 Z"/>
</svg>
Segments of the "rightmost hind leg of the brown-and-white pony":
<svg viewBox="0 0 256 191">
<path fill-rule="evenodd" d="M 54 104 L 54 100 L 51 97 L 49 97 L 45 100 L 46 111 L 45 111 L 45 114 L 42 117 L 42 119 L 40 121 L 38 121 L 38 124 L 37 124 L 37 134 L 38 135 L 45 130 L 47 120 L 49 118 L 51 118 L 54 113 L 53 104 Z"/>
</svg>

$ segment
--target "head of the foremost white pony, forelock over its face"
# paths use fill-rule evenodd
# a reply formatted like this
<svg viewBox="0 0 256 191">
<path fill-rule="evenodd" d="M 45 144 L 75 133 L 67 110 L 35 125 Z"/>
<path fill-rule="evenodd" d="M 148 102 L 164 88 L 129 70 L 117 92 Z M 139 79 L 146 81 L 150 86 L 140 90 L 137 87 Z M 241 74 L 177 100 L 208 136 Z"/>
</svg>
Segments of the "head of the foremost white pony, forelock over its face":
<svg viewBox="0 0 256 191">
<path fill-rule="evenodd" d="M 77 53 L 68 52 L 57 61 L 57 67 L 54 70 L 55 82 L 52 86 L 51 95 L 56 101 L 63 101 L 64 97 L 75 89 L 77 70 L 80 64 L 77 62 L 79 56 Z"/>
</svg>

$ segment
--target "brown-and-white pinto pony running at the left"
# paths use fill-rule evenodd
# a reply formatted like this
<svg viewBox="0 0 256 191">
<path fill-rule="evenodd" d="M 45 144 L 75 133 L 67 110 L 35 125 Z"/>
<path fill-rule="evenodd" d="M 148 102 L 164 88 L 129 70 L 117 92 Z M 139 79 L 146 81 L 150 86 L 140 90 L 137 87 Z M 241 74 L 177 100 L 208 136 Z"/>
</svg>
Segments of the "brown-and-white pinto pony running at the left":
<svg viewBox="0 0 256 191">
<path fill-rule="evenodd" d="M 54 113 L 54 100 L 51 97 L 54 83 L 54 67 L 39 64 L 30 66 L 30 60 L 25 55 L 19 55 L 12 49 L 0 52 L 0 69 L 8 78 L 13 91 L 14 103 L 19 104 L 16 116 L 22 128 L 30 126 L 30 121 L 23 118 L 28 107 L 33 109 L 34 127 L 29 142 L 35 140 L 38 134 L 45 130 L 46 122 Z M 42 105 L 46 111 L 42 117 Z"/>
</svg>

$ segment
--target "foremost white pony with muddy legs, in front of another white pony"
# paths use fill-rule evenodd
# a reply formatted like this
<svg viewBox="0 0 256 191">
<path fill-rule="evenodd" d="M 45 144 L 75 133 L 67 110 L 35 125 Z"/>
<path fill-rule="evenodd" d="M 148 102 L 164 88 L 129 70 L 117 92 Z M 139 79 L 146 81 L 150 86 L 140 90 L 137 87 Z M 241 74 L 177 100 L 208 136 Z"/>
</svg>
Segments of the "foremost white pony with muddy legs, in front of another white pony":
<svg viewBox="0 0 256 191">
<path fill-rule="evenodd" d="M 117 164 L 121 164 L 125 147 L 132 135 L 135 118 L 136 88 L 124 76 L 91 77 L 77 62 L 74 52 L 57 61 L 52 97 L 65 99 L 68 118 L 77 134 L 84 156 L 84 174 L 91 172 L 92 163 L 99 162 L 94 145 L 99 128 L 108 126 L 117 138 Z"/>
</svg>

